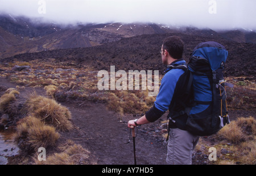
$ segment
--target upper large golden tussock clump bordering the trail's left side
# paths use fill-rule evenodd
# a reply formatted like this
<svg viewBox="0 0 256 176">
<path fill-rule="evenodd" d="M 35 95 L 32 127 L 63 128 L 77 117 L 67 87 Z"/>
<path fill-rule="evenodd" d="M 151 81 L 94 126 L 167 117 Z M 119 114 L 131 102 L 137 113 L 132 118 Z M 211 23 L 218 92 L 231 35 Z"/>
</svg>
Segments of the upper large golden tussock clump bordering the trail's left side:
<svg viewBox="0 0 256 176">
<path fill-rule="evenodd" d="M 26 101 L 28 114 L 41 119 L 47 125 L 52 125 L 60 131 L 72 129 L 71 112 L 55 100 L 43 96 L 31 96 Z"/>
</svg>

